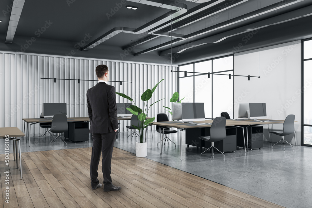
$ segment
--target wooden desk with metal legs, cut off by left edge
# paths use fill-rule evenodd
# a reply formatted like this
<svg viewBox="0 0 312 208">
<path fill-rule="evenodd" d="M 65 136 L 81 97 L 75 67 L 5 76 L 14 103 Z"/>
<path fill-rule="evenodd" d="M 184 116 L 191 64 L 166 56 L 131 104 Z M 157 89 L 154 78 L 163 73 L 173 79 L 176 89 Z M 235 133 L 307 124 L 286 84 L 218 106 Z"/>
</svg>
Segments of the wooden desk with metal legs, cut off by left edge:
<svg viewBox="0 0 312 208">
<path fill-rule="evenodd" d="M 21 179 L 22 177 L 22 153 L 21 153 L 21 140 L 17 139 L 17 137 L 24 137 L 25 134 L 22 133 L 21 130 L 19 130 L 17 127 L 5 127 L 0 128 L 0 138 L 6 138 L 5 136 L 9 136 L 9 140 L 13 140 L 13 157 L 15 161 L 15 153 L 16 152 L 16 168 L 18 169 L 17 164 L 17 141 L 18 141 L 18 149 L 19 149 L 19 161 L 20 161 L 20 172 L 21 172 Z M 14 145 L 15 143 L 15 145 Z M 5 167 L 6 168 L 6 167 Z"/>
</svg>

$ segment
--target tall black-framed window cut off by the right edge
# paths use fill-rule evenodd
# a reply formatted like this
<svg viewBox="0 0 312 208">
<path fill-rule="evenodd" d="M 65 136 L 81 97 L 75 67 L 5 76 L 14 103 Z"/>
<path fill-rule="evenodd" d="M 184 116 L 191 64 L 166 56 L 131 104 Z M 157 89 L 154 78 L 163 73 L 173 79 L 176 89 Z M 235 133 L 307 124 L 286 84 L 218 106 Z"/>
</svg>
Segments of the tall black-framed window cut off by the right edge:
<svg viewBox="0 0 312 208">
<path fill-rule="evenodd" d="M 302 41 L 302 144 L 312 146 L 312 40 Z"/>
</svg>

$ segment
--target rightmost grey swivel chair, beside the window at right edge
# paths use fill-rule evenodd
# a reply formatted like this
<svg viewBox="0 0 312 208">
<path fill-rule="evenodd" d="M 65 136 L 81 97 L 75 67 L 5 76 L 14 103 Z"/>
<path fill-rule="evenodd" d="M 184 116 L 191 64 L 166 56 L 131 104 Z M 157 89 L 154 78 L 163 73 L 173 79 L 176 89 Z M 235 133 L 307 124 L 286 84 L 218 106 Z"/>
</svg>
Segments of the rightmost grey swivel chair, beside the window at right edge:
<svg viewBox="0 0 312 208">
<path fill-rule="evenodd" d="M 279 136 L 282 136 L 282 139 L 280 141 L 283 141 L 283 145 L 284 145 L 284 150 L 285 150 L 285 144 L 284 144 L 284 141 L 287 142 L 285 139 L 284 139 L 284 136 L 286 135 L 289 135 L 289 134 L 292 134 L 294 133 L 295 135 L 295 125 L 294 125 L 294 122 L 295 122 L 295 115 L 293 114 L 290 114 L 286 117 L 284 123 L 283 123 L 283 131 L 271 131 L 270 133 L 274 133 L 276 135 L 279 135 Z M 278 141 L 277 143 L 279 143 L 280 141 Z M 295 141 L 296 141 L 296 135 L 295 135 Z M 275 143 L 275 144 L 277 144 Z M 287 142 L 288 143 L 288 142 Z M 275 145 L 273 144 L 272 145 L 272 149 L 273 149 L 273 146 Z M 290 143 L 288 143 L 290 146 L 292 146 Z M 293 149 L 294 149 L 294 146 L 292 146 Z M 280 143 L 280 148 L 282 148 L 282 143 Z"/>
</svg>

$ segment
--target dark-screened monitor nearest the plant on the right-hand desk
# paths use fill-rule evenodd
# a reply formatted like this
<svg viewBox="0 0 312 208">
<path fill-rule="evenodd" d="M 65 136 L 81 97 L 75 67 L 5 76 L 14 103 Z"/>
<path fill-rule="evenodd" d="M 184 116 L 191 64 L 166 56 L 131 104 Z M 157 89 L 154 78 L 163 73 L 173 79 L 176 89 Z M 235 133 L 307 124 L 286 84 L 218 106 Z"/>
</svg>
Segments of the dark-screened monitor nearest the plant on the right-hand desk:
<svg viewBox="0 0 312 208">
<path fill-rule="evenodd" d="M 204 121 L 204 103 L 182 103 L 182 120 L 187 122 Z"/>
</svg>

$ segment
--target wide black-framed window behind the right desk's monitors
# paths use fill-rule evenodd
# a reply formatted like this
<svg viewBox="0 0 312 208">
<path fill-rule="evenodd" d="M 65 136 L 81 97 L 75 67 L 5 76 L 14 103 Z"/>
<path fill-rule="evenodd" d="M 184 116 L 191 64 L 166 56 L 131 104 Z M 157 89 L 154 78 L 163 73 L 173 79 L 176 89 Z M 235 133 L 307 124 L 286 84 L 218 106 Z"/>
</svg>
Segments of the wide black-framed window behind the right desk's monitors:
<svg viewBox="0 0 312 208">
<path fill-rule="evenodd" d="M 233 77 L 229 79 L 229 74 L 234 74 L 233 62 L 233 56 L 226 56 L 179 66 L 179 95 L 180 99 L 186 97 L 182 102 L 204 103 L 205 118 L 215 118 L 221 112 L 233 118 Z M 216 74 L 208 78 L 209 72 Z"/>
</svg>

